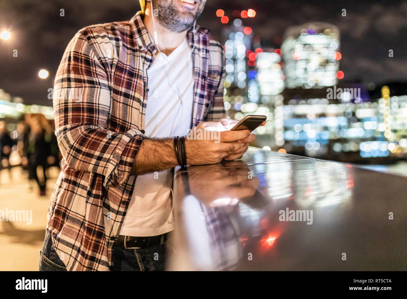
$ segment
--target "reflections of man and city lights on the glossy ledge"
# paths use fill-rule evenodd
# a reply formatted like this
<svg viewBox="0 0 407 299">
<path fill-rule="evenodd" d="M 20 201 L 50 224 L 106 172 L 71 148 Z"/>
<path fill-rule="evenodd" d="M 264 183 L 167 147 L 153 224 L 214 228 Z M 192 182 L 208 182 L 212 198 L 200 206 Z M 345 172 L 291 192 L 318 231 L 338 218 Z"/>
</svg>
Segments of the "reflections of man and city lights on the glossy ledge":
<svg viewBox="0 0 407 299">
<path fill-rule="evenodd" d="M 279 221 L 278 210 L 337 213 L 351 203 L 349 165 L 267 151 L 249 152 L 244 160 L 177 174 L 184 242 L 197 270 L 233 270 L 251 254 L 267 253 L 289 225 Z"/>
</svg>

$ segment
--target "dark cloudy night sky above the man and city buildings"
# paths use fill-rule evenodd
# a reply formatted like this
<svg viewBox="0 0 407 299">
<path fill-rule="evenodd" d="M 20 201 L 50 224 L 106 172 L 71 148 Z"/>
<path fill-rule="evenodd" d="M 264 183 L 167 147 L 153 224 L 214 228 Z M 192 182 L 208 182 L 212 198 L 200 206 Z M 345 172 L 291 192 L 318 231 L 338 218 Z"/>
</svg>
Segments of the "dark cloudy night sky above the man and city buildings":
<svg viewBox="0 0 407 299">
<path fill-rule="evenodd" d="M 208 0 L 197 24 L 223 43 L 221 29 L 232 25 L 232 11 L 250 8 L 256 16 L 243 22 L 266 43 L 292 25 L 320 21 L 338 26 L 346 82 L 407 82 L 405 0 Z M 26 104 L 52 105 L 48 88 L 74 34 L 91 24 L 129 20 L 139 9 L 138 0 L 1 0 L 0 31 L 10 31 L 11 38 L 0 39 L 0 89 Z M 221 24 L 217 9 L 230 18 L 228 25 Z M 13 57 L 14 49 L 18 57 Z M 50 72 L 48 79 L 39 79 L 41 68 Z"/>
</svg>

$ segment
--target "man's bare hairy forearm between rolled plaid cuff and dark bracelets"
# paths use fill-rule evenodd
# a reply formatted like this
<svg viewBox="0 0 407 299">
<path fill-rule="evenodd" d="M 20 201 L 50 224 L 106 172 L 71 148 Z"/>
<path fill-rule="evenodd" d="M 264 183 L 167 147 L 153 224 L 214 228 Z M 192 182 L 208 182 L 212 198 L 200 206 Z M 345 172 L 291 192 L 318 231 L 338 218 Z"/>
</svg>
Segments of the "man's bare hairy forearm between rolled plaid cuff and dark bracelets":
<svg viewBox="0 0 407 299">
<path fill-rule="evenodd" d="M 150 139 L 142 141 L 131 168 L 132 175 L 161 171 L 178 165 L 174 152 L 174 139 Z"/>
</svg>

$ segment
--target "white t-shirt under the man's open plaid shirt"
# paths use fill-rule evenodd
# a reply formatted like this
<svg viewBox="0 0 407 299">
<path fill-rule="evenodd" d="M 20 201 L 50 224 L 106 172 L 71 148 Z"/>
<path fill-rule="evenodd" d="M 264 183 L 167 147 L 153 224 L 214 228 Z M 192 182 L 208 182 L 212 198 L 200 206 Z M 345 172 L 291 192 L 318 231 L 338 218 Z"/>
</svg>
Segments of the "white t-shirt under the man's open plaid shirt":
<svg viewBox="0 0 407 299">
<path fill-rule="evenodd" d="M 188 41 L 185 38 L 168 56 L 157 53 L 147 69 L 145 135 L 161 138 L 186 135 L 192 123 L 194 86 Z M 137 177 L 120 235 L 157 236 L 174 229 L 172 182 L 171 169 Z"/>
</svg>

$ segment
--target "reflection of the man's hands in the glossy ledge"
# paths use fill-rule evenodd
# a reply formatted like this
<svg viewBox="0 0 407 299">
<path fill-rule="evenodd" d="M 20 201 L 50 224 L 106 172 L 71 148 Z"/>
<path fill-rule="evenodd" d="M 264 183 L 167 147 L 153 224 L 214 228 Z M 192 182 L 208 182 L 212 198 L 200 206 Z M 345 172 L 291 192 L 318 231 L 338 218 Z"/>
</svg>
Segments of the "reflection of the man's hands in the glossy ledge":
<svg viewBox="0 0 407 299">
<path fill-rule="evenodd" d="M 190 192 L 210 206 L 236 204 L 239 199 L 253 196 L 260 182 L 249 175 L 241 161 L 188 167 Z"/>
</svg>

